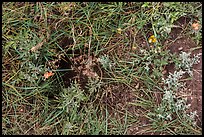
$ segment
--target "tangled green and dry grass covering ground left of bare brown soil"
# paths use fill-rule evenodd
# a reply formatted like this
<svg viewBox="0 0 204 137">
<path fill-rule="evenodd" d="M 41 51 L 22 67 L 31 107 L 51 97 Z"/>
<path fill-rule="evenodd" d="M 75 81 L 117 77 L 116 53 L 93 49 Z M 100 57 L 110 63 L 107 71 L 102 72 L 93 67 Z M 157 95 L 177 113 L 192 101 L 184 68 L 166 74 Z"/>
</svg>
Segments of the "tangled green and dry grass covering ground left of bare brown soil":
<svg viewBox="0 0 204 137">
<path fill-rule="evenodd" d="M 175 109 L 176 95 L 168 93 L 176 102 L 161 98 L 158 104 L 155 94 L 167 94 L 166 65 L 186 67 L 164 42 L 180 17 L 202 25 L 202 3 L 4 2 L 2 7 L 2 134 L 201 134 L 187 108 Z M 199 48 L 201 32 L 189 24 L 183 35 Z M 148 42 L 152 35 L 157 42 Z M 45 79 L 48 71 L 54 75 Z M 81 86 L 83 77 L 89 78 Z M 167 113 L 173 118 L 166 119 Z M 141 117 L 149 123 L 142 124 Z"/>
</svg>

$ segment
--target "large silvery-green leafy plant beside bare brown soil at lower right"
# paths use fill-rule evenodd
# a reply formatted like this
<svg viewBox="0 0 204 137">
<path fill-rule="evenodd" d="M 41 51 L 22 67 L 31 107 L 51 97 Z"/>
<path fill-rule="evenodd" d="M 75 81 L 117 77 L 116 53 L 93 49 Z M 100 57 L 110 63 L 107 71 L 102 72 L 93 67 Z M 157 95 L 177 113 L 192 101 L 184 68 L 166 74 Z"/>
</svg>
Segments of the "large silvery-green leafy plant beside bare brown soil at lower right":
<svg viewBox="0 0 204 137">
<path fill-rule="evenodd" d="M 177 98 L 174 91 L 175 89 L 179 90 L 185 85 L 185 83 L 179 82 L 184 73 L 182 70 L 175 71 L 173 74 L 170 73 L 167 79 L 163 79 L 166 85 L 164 86 L 162 101 L 153 113 L 148 113 L 150 117 L 171 121 L 173 115 L 180 115 L 186 122 L 196 126 L 196 112 L 187 114 L 187 109 L 190 107 L 190 105 L 187 105 L 187 98 Z"/>
</svg>

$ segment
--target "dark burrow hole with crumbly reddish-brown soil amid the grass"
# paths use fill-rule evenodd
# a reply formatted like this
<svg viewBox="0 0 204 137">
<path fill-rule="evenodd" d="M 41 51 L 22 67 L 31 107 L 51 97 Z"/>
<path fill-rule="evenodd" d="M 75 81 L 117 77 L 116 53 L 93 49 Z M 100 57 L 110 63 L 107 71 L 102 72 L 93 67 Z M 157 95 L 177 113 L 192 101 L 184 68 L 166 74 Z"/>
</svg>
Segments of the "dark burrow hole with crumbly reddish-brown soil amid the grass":
<svg viewBox="0 0 204 137">
<path fill-rule="evenodd" d="M 100 64 L 88 47 L 73 50 L 73 43 L 73 39 L 69 37 L 64 37 L 60 41 L 59 45 L 66 53 L 55 62 L 55 65 L 61 70 L 60 75 L 65 88 L 76 80 L 80 87 L 85 89 L 88 78 L 100 77 Z"/>
</svg>

